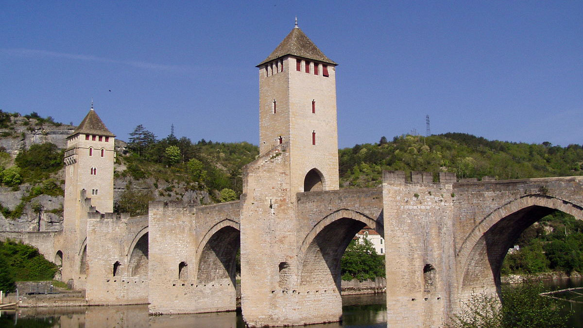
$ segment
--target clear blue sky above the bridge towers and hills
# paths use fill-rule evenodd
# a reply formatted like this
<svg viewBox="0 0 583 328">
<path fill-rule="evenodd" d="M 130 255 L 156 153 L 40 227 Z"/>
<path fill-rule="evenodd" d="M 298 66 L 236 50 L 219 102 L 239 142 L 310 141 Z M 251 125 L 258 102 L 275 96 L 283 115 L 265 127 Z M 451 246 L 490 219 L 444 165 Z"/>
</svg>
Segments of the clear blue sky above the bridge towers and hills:
<svg viewBox="0 0 583 328">
<path fill-rule="evenodd" d="M 293 28 L 333 61 L 340 148 L 425 134 L 583 144 L 583 1 L 9 1 L 0 109 L 118 138 L 258 143 L 259 62 Z M 111 90 L 111 92 L 109 91 Z"/>
</svg>

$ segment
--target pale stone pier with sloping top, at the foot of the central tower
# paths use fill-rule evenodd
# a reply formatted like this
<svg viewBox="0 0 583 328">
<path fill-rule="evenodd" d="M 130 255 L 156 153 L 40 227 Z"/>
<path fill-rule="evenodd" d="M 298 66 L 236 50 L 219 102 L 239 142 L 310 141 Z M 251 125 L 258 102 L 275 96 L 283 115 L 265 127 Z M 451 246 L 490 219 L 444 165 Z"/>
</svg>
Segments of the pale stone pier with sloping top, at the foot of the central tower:
<svg viewBox="0 0 583 328">
<path fill-rule="evenodd" d="M 296 202 L 289 190 L 289 157 L 286 142 L 245 167 L 241 306 L 250 326 L 321 322 L 310 320 L 319 320 L 327 310 L 297 305 L 298 298 L 308 295 L 294 288 L 298 281 Z"/>
</svg>

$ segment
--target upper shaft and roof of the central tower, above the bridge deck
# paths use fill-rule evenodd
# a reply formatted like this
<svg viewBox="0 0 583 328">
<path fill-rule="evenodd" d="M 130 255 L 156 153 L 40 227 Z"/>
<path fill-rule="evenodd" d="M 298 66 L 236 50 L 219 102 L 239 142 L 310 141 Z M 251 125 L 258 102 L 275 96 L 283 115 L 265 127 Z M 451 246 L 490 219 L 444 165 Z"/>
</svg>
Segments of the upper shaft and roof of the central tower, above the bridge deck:
<svg viewBox="0 0 583 328">
<path fill-rule="evenodd" d="M 336 63 L 296 23 L 257 67 L 259 153 L 289 142 L 293 194 L 338 189 Z"/>
</svg>

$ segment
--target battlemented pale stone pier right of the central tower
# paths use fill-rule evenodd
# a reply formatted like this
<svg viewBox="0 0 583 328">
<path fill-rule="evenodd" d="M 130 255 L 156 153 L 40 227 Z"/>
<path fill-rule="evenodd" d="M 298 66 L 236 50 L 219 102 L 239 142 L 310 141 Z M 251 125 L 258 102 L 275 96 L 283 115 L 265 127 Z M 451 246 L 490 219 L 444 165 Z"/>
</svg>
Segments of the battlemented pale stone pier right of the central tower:
<svg viewBox="0 0 583 328">
<path fill-rule="evenodd" d="M 387 326 L 440 327 L 455 277 L 452 182 L 441 175 L 383 173 Z"/>
</svg>

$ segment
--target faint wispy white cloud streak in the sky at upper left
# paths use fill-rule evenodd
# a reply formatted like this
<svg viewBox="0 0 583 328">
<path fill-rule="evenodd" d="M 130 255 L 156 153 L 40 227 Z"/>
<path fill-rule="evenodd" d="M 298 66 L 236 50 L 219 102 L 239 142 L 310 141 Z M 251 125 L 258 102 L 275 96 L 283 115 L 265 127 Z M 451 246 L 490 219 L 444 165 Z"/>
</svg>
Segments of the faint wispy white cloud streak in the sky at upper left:
<svg viewBox="0 0 583 328">
<path fill-rule="evenodd" d="M 80 55 L 80 54 L 67 54 L 67 53 L 57 53 L 55 51 L 47 50 L 34 50 L 34 49 L 24 49 L 24 48 L 11 48 L 11 49 L 0 49 L 3 53 L 16 55 L 20 57 L 54 57 L 54 58 L 65 58 L 70 60 L 80 60 L 80 61 L 95 61 L 95 62 L 105 62 L 111 64 L 122 64 L 129 65 L 132 67 L 143 68 L 143 69 L 154 69 L 157 71 L 174 71 L 180 72 L 190 69 L 188 66 L 184 65 L 165 65 L 156 64 L 153 62 L 145 61 L 127 61 L 127 60 L 114 60 L 110 58 L 97 57 L 94 55 Z"/>
</svg>

